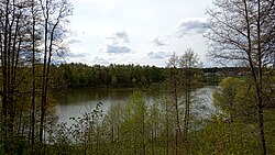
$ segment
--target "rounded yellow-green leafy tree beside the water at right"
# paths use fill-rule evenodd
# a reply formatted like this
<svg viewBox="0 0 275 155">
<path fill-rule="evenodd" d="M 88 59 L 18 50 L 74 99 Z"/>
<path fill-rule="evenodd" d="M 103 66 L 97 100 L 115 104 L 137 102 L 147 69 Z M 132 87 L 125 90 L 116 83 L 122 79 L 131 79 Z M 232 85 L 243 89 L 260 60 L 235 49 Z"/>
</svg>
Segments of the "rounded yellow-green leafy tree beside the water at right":
<svg viewBox="0 0 275 155">
<path fill-rule="evenodd" d="M 227 121 L 241 121 L 244 124 L 256 122 L 255 89 L 245 79 L 228 77 L 213 93 L 213 103 L 228 115 Z"/>
</svg>

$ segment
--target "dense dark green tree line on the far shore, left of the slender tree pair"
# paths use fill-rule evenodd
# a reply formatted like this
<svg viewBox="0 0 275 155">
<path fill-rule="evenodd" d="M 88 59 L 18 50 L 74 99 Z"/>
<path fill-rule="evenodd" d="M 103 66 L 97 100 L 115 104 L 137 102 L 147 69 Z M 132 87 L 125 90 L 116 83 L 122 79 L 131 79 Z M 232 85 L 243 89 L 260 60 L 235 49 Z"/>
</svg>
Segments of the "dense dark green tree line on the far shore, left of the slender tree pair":
<svg viewBox="0 0 275 155">
<path fill-rule="evenodd" d="M 164 80 L 163 70 L 155 66 L 109 65 L 88 66 L 63 64 L 65 80 L 69 87 L 147 87 Z"/>
</svg>

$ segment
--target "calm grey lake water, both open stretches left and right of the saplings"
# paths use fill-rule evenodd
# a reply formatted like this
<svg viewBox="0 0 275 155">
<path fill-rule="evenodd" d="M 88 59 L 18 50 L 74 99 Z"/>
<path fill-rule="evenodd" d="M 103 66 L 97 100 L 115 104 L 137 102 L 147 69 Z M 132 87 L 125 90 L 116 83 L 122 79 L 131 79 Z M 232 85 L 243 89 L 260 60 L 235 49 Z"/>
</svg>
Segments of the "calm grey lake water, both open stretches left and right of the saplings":
<svg viewBox="0 0 275 155">
<path fill-rule="evenodd" d="M 193 103 L 194 112 L 208 115 L 215 111 L 212 106 L 213 90 L 215 87 L 205 87 L 196 91 L 199 98 Z M 103 112 L 107 112 L 111 104 L 127 103 L 132 92 L 132 89 L 73 89 L 65 96 L 57 97 L 56 114 L 58 121 L 69 123 L 69 118 L 78 118 L 84 112 L 92 111 L 99 102 L 103 103 Z"/>
</svg>

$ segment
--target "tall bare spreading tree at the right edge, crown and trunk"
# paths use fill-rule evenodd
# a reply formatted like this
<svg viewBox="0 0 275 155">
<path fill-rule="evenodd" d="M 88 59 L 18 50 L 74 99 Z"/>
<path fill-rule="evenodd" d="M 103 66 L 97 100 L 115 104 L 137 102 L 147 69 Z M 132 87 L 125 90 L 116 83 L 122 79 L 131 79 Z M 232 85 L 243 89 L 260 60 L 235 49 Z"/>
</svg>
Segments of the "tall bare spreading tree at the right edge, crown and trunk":
<svg viewBox="0 0 275 155">
<path fill-rule="evenodd" d="M 275 1 L 274 0 L 216 0 L 208 10 L 210 56 L 220 60 L 241 63 L 250 68 L 255 89 L 258 132 L 262 154 L 266 154 L 264 135 L 263 78 L 274 62 Z"/>
</svg>

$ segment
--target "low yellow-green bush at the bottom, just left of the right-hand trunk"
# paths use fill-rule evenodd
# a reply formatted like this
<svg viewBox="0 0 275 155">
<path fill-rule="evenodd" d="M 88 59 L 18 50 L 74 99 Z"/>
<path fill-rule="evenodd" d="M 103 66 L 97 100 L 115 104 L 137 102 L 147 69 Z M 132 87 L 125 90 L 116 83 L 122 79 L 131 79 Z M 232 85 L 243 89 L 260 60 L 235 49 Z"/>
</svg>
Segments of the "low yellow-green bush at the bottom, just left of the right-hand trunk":
<svg viewBox="0 0 275 155">
<path fill-rule="evenodd" d="M 227 115 L 216 115 L 207 125 L 191 133 L 195 154 L 258 154 L 257 141 L 254 139 L 253 125 L 234 121 L 224 121 Z"/>
</svg>

